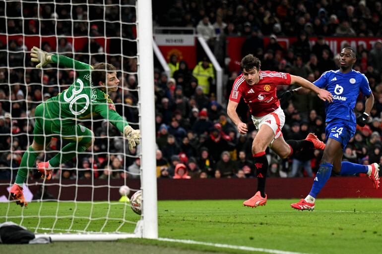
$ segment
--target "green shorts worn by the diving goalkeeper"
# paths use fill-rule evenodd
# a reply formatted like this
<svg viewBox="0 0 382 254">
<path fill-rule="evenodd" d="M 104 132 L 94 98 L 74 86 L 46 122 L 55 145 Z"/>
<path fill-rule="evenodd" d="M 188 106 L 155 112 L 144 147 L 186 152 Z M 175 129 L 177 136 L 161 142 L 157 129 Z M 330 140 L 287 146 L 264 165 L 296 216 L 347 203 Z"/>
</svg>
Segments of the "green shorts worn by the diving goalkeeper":
<svg viewBox="0 0 382 254">
<path fill-rule="evenodd" d="M 40 145 L 47 146 L 53 137 L 69 142 L 83 142 L 93 137 L 93 132 L 85 126 L 51 115 L 45 103 L 36 107 L 35 122 L 33 140 Z"/>
</svg>

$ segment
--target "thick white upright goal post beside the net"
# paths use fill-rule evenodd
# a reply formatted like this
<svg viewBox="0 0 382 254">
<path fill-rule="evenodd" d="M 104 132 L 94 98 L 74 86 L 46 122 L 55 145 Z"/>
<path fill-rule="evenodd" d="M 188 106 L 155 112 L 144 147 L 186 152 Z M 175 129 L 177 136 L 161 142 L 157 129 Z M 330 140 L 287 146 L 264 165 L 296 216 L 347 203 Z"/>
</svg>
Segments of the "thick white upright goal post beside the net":
<svg viewBox="0 0 382 254">
<path fill-rule="evenodd" d="M 155 159 L 154 57 L 151 0 L 137 0 L 138 87 L 141 131 L 142 221 L 135 234 L 158 238 L 157 179 Z M 142 223 L 140 223 L 142 222 Z M 139 229 L 141 227 L 142 230 Z"/>
</svg>

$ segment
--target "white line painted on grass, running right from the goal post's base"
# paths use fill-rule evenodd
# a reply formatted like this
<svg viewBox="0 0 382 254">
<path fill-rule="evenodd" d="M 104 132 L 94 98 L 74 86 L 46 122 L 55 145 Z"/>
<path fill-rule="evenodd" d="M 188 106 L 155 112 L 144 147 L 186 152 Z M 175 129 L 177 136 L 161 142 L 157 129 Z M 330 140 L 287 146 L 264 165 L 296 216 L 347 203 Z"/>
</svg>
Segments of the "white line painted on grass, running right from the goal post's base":
<svg viewBox="0 0 382 254">
<path fill-rule="evenodd" d="M 158 241 L 184 243 L 184 244 L 195 244 L 195 245 L 205 245 L 205 246 L 213 246 L 213 247 L 218 247 L 218 248 L 227 248 L 227 249 L 250 251 L 250 252 L 265 252 L 265 253 L 272 253 L 272 254 L 306 254 L 306 253 L 300 253 L 300 252 L 286 252 L 286 251 L 280 251 L 280 250 L 254 248 L 254 247 L 249 247 L 249 246 L 214 244 L 214 243 L 198 242 L 198 241 L 183 240 L 183 239 L 158 238 Z"/>
</svg>

